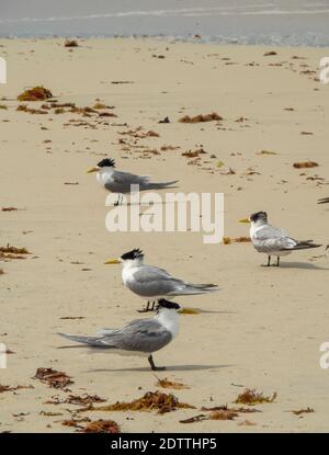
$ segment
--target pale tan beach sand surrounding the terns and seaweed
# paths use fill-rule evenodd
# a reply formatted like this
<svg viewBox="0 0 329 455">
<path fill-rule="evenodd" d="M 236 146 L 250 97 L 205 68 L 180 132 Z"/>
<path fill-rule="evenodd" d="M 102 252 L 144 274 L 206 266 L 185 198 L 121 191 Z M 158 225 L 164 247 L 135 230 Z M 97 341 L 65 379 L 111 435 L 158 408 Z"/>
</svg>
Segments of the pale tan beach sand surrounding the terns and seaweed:
<svg viewBox="0 0 329 455">
<path fill-rule="evenodd" d="M 121 268 L 103 265 L 134 247 L 174 275 L 222 288 L 177 299 L 204 312 L 182 316 L 179 337 L 155 355 L 168 366 L 158 376 L 189 385 L 173 393 L 197 409 L 164 416 L 90 412 L 92 419 L 114 419 L 124 432 L 328 431 L 329 372 L 319 366 L 319 345 L 329 340 L 325 247 L 296 252 L 280 269 L 268 269 L 261 266 L 266 258 L 250 243 L 204 244 L 201 234 L 192 232 L 110 234 L 106 193 L 86 170 L 110 156 L 122 170 L 159 181 L 177 178 L 185 193 L 224 192 L 225 236 L 248 235 L 238 219 L 265 209 L 270 221 L 292 236 L 326 246 L 328 207 L 316 201 L 329 195 L 329 86 L 315 78 L 329 49 L 280 47 L 277 55 L 264 57 L 272 48 L 148 39 L 80 41 L 72 52 L 63 39 L 1 39 L 0 45 L 9 67 L 8 84 L 0 86 L 1 96 L 8 98 L 1 101 L 8 110 L 0 110 L 0 206 L 24 208 L 0 213 L 1 246 L 32 252 L 25 260 L 0 262 L 5 272 L 0 276 L 0 341 L 14 352 L 8 368 L 0 369 L 0 384 L 34 386 L 0 394 L 0 431 L 75 431 L 60 422 L 77 407 L 44 405 L 67 394 L 32 379 L 37 367 L 66 372 L 75 380 L 72 393 L 98 394 L 110 403 L 157 389 L 144 359 L 58 349 L 68 344 L 58 331 L 93 333 L 138 317 L 141 302 L 123 287 Z M 122 80 L 134 83 L 111 83 Z M 16 95 L 36 84 L 50 89 L 59 102 L 91 106 L 100 99 L 115 106 L 117 117 L 104 117 L 109 125 L 101 125 L 95 116 L 16 112 Z M 224 121 L 178 122 L 185 114 L 213 111 Z M 164 116 L 171 123 L 158 124 Z M 240 117 L 246 120 L 236 122 Z M 97 127 L 64 127 L 71 118 Z M 128 127 L 115 126 L 124 123 Z M 160 137 L 137 139 L 137 145 L 180 148 L 160 155 L 124 150 L 118 140 L 126 136 L 118 133 L 138 126 Z M 201 145 L 206 151 L 201 166 L 189 166 L 181 153 Z M 277 155 L 257 155 L 264 149 Z M 319 167 L 293 168 L 308 159 Z M 226 174 L 229 168 L 235 174 Z M 248 174 L 250 168 L 257 173 Z M 317 175 L 324 180 L 313 179 Z M 202 406 L 230 405 L 243 387 L 276 391 L 277 398 L 259 406 L 262 412 L 234 421 L 179 423 Z M 302 418 L 290 412 L 306 407 L 315 412 Z M 241 424 L 246 418 L 254 425 Z"/>
</svg>

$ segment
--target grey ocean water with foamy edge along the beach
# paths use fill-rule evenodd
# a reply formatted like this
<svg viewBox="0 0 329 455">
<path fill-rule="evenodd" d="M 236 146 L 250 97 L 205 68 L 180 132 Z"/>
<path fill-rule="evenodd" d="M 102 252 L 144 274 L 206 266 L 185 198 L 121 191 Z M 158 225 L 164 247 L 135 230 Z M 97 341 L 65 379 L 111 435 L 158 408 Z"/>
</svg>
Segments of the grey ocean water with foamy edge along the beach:
<svg viewBox="0 0 329 455">
<path fill-rule="evenodd" d="M 329 0 L 0 0 L 0 36 L 329 46 Z"/>
</svg>

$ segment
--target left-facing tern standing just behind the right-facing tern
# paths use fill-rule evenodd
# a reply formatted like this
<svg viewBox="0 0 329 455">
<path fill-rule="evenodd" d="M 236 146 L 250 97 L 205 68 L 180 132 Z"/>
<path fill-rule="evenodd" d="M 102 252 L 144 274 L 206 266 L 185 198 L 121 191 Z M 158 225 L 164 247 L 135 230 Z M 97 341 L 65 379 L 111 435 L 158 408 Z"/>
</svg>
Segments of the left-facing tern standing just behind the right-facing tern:
<svg viewBox="0 0 329 455">
<path fill-rule="evenodd" d="M 155 299 L 166 296 L 198 295 L 217 291 L 214 284 L 192 284 L 174 278 L 166 270 L 144 264 L 144 253 L 139 249 L 128 251 L 118 259 L 105 264 L 123 264 L 122 280 L 128 289 L 147 300 L 143 311 L 152 310 Z M 150 302 L 152 307 L 149 308 Z"/>
</svg>

